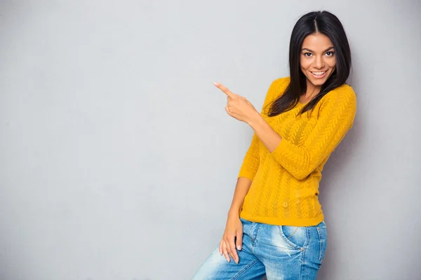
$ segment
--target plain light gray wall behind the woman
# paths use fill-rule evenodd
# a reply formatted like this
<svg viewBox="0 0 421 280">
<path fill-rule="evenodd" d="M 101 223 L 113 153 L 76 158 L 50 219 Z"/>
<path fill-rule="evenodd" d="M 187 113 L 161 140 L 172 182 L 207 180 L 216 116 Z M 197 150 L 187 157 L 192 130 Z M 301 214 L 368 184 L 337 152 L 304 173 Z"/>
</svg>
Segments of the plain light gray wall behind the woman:
<svg viewBox="0 0 421 280">
<path fill-rule="evenodd" d="M 225 228 L 293 25 L 342 21 L 354 128 L 323 171 L 319 279 L 419 279 L 420 1 L 0 2 L 0 279 L 189 279 Z"/>
</svg>

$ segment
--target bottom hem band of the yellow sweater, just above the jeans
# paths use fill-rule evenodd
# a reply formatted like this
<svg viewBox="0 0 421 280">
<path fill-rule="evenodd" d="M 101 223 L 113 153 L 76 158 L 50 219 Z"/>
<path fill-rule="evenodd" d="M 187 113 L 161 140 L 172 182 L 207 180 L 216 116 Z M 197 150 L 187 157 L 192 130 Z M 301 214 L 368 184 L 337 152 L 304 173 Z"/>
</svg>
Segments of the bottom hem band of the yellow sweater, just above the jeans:
<svg viewBox="0 0 421 280">
<path fill-rule="evenodd" d="M 241 211 L 240 218 L 253 223 L 265 223 L 268 225 L 290 225 L 294 227 L 309 227 L 319 225 L 324 220 L 323 213 L 315 218 L 271 218 L 256 217 Z"/>
</svg>

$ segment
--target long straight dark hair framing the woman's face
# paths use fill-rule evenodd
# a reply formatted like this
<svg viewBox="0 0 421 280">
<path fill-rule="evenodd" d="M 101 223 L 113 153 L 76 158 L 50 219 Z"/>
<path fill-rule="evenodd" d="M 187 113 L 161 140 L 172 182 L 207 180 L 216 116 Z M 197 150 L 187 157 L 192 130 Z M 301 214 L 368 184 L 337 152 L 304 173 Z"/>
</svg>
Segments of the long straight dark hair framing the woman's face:
<svg viewBox="0 0 421 280">
<path fill-rule="evenodd" d="M 290 38 L 290 84 L 282 96 L 270 104 L 268 116 L 277 116 L 293 109 L 300 100 L 300 94 L 307 90 L 306 77 L 300 67 L 300 53 L 304 39 L 317 32 L 332 41 L 333 48 L 335 48 L 336 67 L 326 83 L 321 86 L 319 94 L 307 103 L 299 114 L 313 109 L 326 93 L 345 84 L 351 68 L 351 50 L 344 27 L 333 13 L 327 11 L 307 13 L 295 24 Z"/>
</svg>

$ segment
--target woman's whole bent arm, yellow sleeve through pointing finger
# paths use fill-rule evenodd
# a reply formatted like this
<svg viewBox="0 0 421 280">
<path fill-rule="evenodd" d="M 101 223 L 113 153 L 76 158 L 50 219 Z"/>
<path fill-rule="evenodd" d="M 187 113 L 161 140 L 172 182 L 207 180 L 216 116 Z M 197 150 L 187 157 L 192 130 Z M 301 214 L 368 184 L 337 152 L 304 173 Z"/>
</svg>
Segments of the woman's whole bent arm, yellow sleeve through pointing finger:
<svg viewBox="0 0 421 280">
<path fill-rule="evenodd" d="M 226 111 L 229 116 L 248 123 L 266 146 L 276 162 L 296 179 L 305 179 L 340 144 L 354 123 L 356 96 L 354 91 L 343 90 L 323 97 L 319 118 L 309 137 L 301 146 L 282 139 L 272 127 L 255 113 L 247 99 L 216 84 L 228 97 Z M 253 111 L 254 109 L 254 111 Z"/>
</svg>

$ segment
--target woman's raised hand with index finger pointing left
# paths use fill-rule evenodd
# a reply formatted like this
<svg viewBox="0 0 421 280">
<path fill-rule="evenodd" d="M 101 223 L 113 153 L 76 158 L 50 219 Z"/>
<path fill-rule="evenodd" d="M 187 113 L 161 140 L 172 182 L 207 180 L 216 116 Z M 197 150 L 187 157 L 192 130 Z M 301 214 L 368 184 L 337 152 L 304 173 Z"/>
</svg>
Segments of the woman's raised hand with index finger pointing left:
<svg viewBox="0 0 421 280">
<path fill-rule="evenodd" d="M 255 109 L 253 104 L 245 97 L 232 93 L 227 87 L 220 83 L 214 83 L 214 85 L 227 94 L 228 101 L 225 111 L 227 111 L 229 116 L 248 124 L 250 124 L 250 121 L 253 120 L 253 118 L 260 116 L 260 113 Z"/>
</svg>

